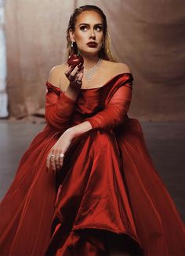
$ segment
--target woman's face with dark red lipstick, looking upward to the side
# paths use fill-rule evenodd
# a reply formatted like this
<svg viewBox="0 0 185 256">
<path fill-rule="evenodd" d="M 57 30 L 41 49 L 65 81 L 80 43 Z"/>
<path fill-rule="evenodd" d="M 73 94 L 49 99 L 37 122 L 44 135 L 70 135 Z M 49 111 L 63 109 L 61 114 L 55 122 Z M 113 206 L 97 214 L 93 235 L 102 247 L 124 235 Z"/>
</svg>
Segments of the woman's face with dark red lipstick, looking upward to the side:
<svg viewBox="0 0 185 256">
<path fill-rule="evenodd" d="M 70 36 L 71 40 L 77 43 L 78 50 L 82 51 L 82 54 L 98 54 L 103 41 L 103 20 L 100 14 L 95 11 L 81 13 L 77 18 L 74 32 L 70 31 Z"/>
</svg>

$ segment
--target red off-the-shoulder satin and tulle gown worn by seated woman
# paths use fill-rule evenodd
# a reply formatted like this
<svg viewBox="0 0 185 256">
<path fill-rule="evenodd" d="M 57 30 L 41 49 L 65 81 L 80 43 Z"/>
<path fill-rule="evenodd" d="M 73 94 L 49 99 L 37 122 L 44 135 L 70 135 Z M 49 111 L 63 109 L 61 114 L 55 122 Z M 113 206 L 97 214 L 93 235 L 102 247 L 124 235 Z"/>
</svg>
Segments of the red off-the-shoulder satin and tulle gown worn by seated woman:
<svg viewBox="0 0 185 256">
<path fill-rule="evenodd" d="M 46 83 L 47 124 L 0 205 L 0 255 L 107 255 L 111 234 L 140 254 L 185 254 L 183 221 L 154 169 L 140 122 L 127 116 L 132 80 L 121 73 L 82 89 L 77 102 Z M 83 121 L 93 129 L 72 140 L 60 172 L 47 172 L 51 147 Z"/>
</svg>

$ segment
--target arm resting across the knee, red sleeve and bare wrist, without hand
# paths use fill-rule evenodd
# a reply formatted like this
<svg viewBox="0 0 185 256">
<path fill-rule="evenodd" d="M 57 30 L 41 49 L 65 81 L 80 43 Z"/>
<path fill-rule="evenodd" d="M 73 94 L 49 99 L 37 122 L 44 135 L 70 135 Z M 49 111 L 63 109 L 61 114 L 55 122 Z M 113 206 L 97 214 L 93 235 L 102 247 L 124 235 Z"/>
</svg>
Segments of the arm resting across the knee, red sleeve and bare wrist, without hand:
<svg viewBox="0 0 185 256">
<path fill-rule="evenodd" d="M 129 111 L 129 106 L 132 98 L 132 80 L 126 80 L 117 91 L 114 92 L 107 106 L 96 113 L 93 117 L 86 118 L 85 122 L 69 128 L 67 132 L 71 133 L 72 137 L 81 135 L 92 128 L 108 128 L 121 124 Z"/>
</svg>

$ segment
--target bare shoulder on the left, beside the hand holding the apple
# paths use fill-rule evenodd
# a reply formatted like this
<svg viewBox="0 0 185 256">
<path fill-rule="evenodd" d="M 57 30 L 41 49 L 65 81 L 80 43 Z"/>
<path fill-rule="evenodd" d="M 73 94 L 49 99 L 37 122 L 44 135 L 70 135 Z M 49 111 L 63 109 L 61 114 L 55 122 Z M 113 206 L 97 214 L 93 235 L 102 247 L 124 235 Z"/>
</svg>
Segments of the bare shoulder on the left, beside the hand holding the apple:
<svg viewBox="0 0 185 256">
<path fill-rule="evenodd" d="M 49 72 L 48 82 L 60 88 L 62 80 L 61 78 L 63 78 L 66 69 L 67 63 L 55 65 Z"/>
</svg>

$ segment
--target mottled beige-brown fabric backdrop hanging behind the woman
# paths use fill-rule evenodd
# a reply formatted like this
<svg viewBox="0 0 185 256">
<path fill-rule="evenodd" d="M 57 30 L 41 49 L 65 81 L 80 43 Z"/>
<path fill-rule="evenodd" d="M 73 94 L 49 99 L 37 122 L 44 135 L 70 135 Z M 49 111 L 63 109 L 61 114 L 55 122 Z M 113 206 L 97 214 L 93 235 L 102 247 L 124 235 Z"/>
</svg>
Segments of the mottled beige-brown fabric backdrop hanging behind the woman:
<svg viewBox="0 0 185 256">
<path fill-rule="evenodd" d="M 112 50 L 134 76 L 131 117 L 185 121 L 183 0 L 6 0 L 9 111 L 24 117 L 45 104 L 49 70 L 66 59 L 66 28 L 75 7 L 100 6 Z"/>
</svg>

